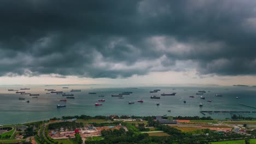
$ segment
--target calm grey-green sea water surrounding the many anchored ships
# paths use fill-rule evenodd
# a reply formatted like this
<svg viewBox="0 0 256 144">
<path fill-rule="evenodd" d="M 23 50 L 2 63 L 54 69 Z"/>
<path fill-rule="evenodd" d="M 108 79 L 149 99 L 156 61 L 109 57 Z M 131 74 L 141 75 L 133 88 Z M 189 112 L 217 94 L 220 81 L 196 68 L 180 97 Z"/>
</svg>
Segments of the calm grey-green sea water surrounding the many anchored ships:
<svg viewBox="0 0 256 144">
<path fill-rule="evenodd" d="M 29 95 L 20 95 L 15 92 L 8 92 L 8 89 L 31 88 L 30 90 L 20 90 L 27 93 L 38 93 L 38 98 L 32 98 Z M 62 87 L 69 87 L 63 89 Z M 72 92 L 74 99 L 67 99 L 67 102 L 60 101 L 65 99 L 61 94 L 46 94 L 44 89 L 56 89 L 66 93 L 71 89 L 81 89 L 82 92 Z M 158 93 L 149 93 L 153 89 L 161 89 Z M 187 90 L 187 91 L 184 91 Z M 196 95 L 197 91 L 206 91 L 203 97 Z M 210 92 L 208 92 L 210 91 Z M 88 94 L 96 92 L 97 94 Z M 124 95 L 124 99 L 111 97 L 112 94 L 121 92 L 133 92 L 130 95 Z M 176 92 L 175 96 L 161 96 L 161 93 Z M 161 99 L 150 99 L 153 94 Z M 215 94 L 222 94 L 223 97 L 215 97 Z M 105 97 L 98 97 L 104 95 Z M 194 95 L 195 98 L 189 98 Z M 25 100 L 19 100 L 19 97 Z M 241 97 L 241 99 L 236 99 Z M 97 100 L 105 99 L 100 102 L 102 106 L 95 106 Z M 137 103 L 138 100 L 144 100 L 144 103 Z M 25 101 L 30 100 L 30 103 Z M 183 103 L 186 100 L 187 103 Z M 212 100 L 212 103 L 207 103 Z M 129 101 L 135 104 L 129 105 Z M 91 88 L 91 86 L 0 86 L 0 124 L 16 124 L 33 121 L 40 121 L 53 117 L 75 115 L 135 115 L 135 116 L 200 116 L 200 110 L 209 111 L 256 111 L 256 109 L 238 105 L 238 103 L 256 107 L 256 87 L 138 87 L 130 88 Z M 156 106 L 156 103 L 160 103 Z M 202 108 L 199 104 L 202 103 Z M 57 109 L 57 104 L 65 104 L 66 107 Z M 167 112 L 171 110 L 171 112 Z M 256 117 L 256 113 L 237 113 L 237 115 Z M 206 113 L 206 116 L 212 118 L 225 119 L 230 117 L 229 113 Z"/>
</svg>

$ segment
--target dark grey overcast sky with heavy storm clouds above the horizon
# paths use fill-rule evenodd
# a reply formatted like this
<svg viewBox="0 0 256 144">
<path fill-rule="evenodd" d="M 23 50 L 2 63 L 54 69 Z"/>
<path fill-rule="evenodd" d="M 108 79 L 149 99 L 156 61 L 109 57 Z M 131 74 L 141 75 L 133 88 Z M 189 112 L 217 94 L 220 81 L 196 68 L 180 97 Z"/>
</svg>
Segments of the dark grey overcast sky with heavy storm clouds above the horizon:
<svg viewBox="0 0 256 144">
<path fill-rule="evenodd" d="M 256 1 L 0 1 L 0 85 L 256 85 Z"/>
</svg>

